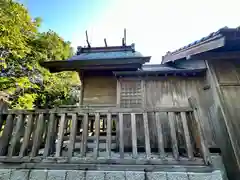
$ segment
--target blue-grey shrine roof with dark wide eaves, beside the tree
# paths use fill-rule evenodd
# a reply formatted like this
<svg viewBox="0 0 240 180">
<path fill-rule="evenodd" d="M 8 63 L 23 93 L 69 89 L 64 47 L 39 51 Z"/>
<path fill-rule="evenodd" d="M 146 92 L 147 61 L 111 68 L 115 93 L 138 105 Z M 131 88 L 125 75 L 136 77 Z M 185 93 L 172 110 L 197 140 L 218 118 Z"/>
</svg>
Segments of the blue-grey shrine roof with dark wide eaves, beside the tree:
<svg viewBox="0 0 240 180">
<path fill-rule="evenodd" d="M 47 61 L 41 65 L 51 72 L 73 70 L 137 69 L 151 57 L 143 56 L 131 46 L 78 47 L 77 54 L 67 60 Z"/>
</svg>

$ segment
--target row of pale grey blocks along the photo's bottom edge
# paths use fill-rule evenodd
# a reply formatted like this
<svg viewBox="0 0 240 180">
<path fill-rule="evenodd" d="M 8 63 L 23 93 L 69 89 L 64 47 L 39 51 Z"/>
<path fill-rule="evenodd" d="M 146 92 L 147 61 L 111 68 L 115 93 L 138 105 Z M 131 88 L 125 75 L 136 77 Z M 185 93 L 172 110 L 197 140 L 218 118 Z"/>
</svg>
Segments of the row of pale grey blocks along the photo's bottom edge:
<svg viewBox="0 0 240 180">
<path fill-rule="evenodd" d="M 209 173 L 78 171 L 78 170 L 0 170 L 1 180 L 223 180 L 220 170 Z"/>
</svg>

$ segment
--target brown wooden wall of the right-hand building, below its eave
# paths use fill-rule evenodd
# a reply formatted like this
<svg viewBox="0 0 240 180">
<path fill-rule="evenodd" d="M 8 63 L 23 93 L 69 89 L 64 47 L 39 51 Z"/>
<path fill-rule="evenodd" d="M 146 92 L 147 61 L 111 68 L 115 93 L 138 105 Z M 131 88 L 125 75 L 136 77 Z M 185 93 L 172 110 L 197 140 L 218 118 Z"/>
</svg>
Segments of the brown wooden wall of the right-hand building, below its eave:
<svg viewBox="0 0 240 180">
<path fill-rule="evenodd" d="M 214 97 L 212 116 L 216 141 L 229 177 L 240 176 L 240 62 L 211 60 L 208 80 Z"/>
</svg>

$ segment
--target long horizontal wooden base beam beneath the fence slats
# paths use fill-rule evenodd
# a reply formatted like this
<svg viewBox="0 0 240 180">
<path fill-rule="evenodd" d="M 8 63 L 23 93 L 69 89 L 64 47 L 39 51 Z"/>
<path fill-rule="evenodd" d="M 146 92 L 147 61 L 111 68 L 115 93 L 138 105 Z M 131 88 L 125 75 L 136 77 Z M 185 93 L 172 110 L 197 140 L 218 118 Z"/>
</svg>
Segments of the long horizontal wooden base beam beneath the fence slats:
<svg viewBox="0 0 240 180">
<path fill-rule="evenodd" d="M 14 167 L 15 165 L 20 168 L 16 169 L 46 169 L 51 167 L 53 169 L 65 169 L 70 166 L 69 170 L 72 170 L 72 166 L 75 165 L 75 168 L 77 170 L 83 169 L 86 170 L 88 167 L 90 168 L 96 168 L 96 170 L 100 170 L 102 165 L 107 166 L 107 171 L 109 171 L 109 168 L 114 167 L 115 165 L 122 165 L 126 166 L 128 168 L 137 168 L 141 167 L 144 165 L 153 165 L 150 171 L 156 171 L 158 167 L 161 167 L 161 171 L 166 171 L 169 170 L 175 171 L 176 168 L 180 168 L 181 172 L 186 172 L 188 168 L 193 168 L 192 170 L 195 169 L 196 172 L 206 172 L 203 170 L 204 167 L 207 167 L 208 171 L 207 172 L 212 172 L 213 168 L 211 166 L 206 166 L 204 165 L 204 161 L 201 158 L 197 158 L 195 161 L 189 161 L 188 159 L 181 159 L 181 161 L 176 161 L 172 157 L 169 157 L 169 160 L 161 160 L 161 159 L 106 159 L 106 158 L 101 158 L 101 159 L 83 159 L 83 158 L 65 158 L 65 157 L 49 157 L 47 161 L 43 162 L 41 158 L 36 157 L 36 158 L 29 158 L 29 157 L 24 157 L 24 158 L 19 158 L 19 157 L 0 157 L 0 164 L 1 168 L 6 168 L 7 163 L 14 163 L 12 164 Z M 57 163 L 56 163 L 57 162 Z M 20 166 L 18 166 L 20 165 Z M 99 166 L 98 166 L 99 165 Z M 158 166 L 156 166 L 158 165 Z M 160 165 L 160 166 L 159 166 Z M 47 168 L 48 169 L 48 168 Z M 113 168 L 114 169 L 114 168 Z M 116 169 L 115 169 L 116 170 Z M 127 169 L 126 169 L 127 170 Z M 136 169 L 135 169 L 136 170 Z M 144 169 L 142 169 L 143 171 Z M 195 172 L 193 171 L 193 172 Z"/>
</svg>

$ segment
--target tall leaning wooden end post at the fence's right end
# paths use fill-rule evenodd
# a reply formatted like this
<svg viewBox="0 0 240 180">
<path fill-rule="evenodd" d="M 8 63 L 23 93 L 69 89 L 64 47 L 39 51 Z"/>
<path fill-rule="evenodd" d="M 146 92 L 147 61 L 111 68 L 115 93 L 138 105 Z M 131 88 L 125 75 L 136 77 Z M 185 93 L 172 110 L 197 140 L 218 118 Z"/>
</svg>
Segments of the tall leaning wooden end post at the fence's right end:
<svg viewBox="0 0 240 180">
<path fill-rule="evenodd" d="M 189 97 L 188 102 L 190 106 L 193 108 L 193 118 L 196 121 L 199 136 L 200 136 L 200 143 L 201 143 L 201 151 L 206 164 L 211 164 L 211 157 L 210 152 L 208 149 L 207 139 L 205 137 L 204 131 L 202 129 L 202 125 L 200 123 L 200 118 L 202 117 L 199 110 L 198 104 L 194 97 Z"/>
</svg>

